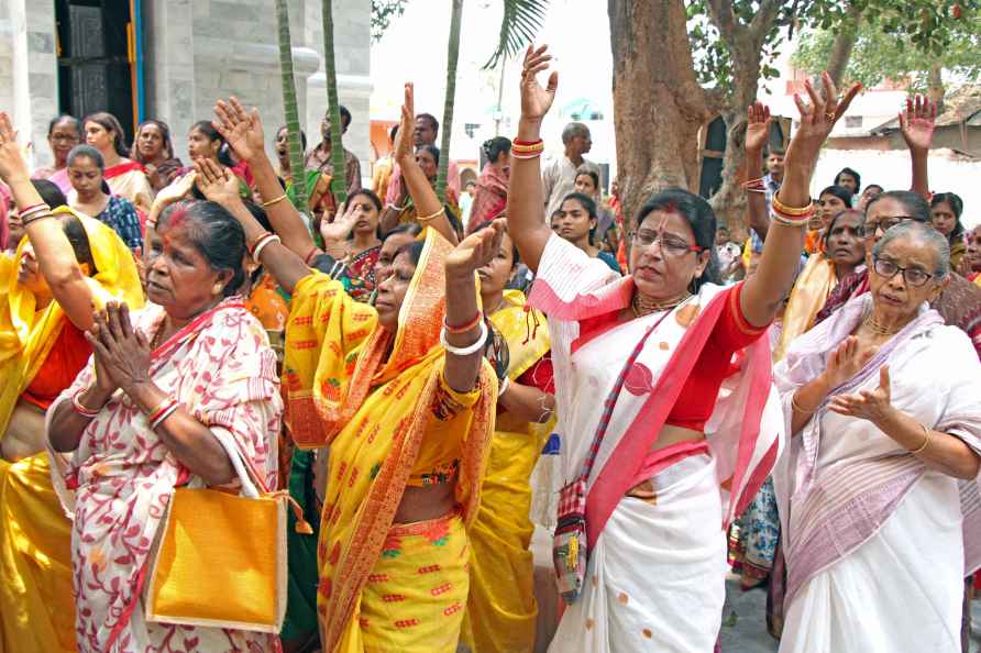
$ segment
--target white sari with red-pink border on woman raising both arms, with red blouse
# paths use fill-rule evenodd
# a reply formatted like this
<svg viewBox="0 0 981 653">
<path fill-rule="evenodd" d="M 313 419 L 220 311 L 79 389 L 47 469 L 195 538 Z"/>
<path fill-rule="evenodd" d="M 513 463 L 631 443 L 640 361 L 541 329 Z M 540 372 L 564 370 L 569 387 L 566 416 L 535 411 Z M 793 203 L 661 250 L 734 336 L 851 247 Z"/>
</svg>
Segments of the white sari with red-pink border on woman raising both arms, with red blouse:
<svg viewBox="0 0 981 653">
<path fill-rule="evenodd" d="M 618 279 L 555 235 L 538 272 L 530 300 L 549 316 L 562 447 L 556 485 L 581 474 L 604 419 L 600 403 L 626 374 L 595 452 L 597 472 L 586 482 L 583 594 L 562 616 L 550 650 L 707 653 L 725 599 L 724 529 L 757 494 L 780 451 L 765 329 L 740 322 L 740 286 L 706 285 L 670 313 L 620 322 L 632 279 Z M 717 362 L 703 359 L 709 351 Z M 721 363 L 726 375 L 714 386 L 705 376 L 709 363 Z M 701 396 L 680 399 L 690 381 L 703 388 Z M 650 453 L 669 416 L 676 423 L 699 401 L 709 413 L 697 427 L 706 439 Z M 627 496 L 631 488 L 646 491 Z"/>
</svg>

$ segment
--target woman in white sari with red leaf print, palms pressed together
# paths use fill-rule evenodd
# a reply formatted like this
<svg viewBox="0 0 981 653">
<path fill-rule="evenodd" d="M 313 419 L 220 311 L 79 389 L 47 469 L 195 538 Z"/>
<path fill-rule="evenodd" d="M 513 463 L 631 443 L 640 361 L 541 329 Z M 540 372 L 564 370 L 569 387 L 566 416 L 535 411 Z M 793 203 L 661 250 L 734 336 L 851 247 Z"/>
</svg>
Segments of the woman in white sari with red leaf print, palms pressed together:
<svg viewBox="0 0 981 653">
<path fill-rule="evenodd" d="M 174 487 L 231 485 L 229 436 L 275 487 L 283 401 L 276 355 L 238 289 L 245 234 L 214 202 L 168 208 L 150 232 L 146 294 L 133 314 L 110 302 L 95 354 L 52 405 L 52 449 L 74 452 L 71 534 L 81 653 L 273 651 L 267 633 L 148 621 L 142 591 Z M 202 514 L 201 519 L 208 519 Z"/>
</svg>

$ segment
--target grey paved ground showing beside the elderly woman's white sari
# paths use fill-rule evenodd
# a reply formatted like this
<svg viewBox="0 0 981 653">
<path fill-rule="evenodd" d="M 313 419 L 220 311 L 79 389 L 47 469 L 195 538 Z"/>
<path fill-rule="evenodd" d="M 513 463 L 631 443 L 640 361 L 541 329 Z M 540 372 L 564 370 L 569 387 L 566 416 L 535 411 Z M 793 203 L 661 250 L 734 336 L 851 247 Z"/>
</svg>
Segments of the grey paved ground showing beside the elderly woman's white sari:
<svg viewBox="0 0 981 653">
<path fill-rule="evenodd" d="M 737 580 L 726 583 L 723 611 L 723 653 L 773 653 L 778 642 L 767 632 L 767 593 L 740 591 Z M 972 601 L 971 652 L 981 651 L 981 600 Z"/>
</svg>

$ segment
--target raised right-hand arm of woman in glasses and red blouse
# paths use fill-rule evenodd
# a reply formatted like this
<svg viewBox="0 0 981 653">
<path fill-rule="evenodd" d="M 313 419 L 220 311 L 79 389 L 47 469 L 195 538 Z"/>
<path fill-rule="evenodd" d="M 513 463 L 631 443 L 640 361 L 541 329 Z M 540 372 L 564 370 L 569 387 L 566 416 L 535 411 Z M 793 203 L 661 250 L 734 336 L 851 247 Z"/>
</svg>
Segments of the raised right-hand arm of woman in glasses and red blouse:
<svg viewBox="0 0 981 653">
<path fill-rule="evenodd" d="M 785 211 L 803 213 L 802 218 L 808 215 L 805 208 L 809 207 L 811 213 L 814 211 L 811 202 L 811 176 L 822 145 L 860 88 L 858 84 L 853 85 L 839 100 L 838 89 L 827 73 L 822 75 L 822 81 L 825 87 L 824 98 L 827 100 L 814 90 L 809 80 L 804 82 L 811 98 L 809 104 L 794 95 L 794 102 L 801 112 L 801 126 L 787 147 L 783 184 L 773 199 L 774 210 L 783 207 Z M 802 221 L 797 217 L 790 221 L 774 220 L 770 225 L 757 274 L 747 279 L 739 296 L 742 314 L 750 324 L 763 326 L 776 316 L 794 283 L 806 228 L 807 220 Z"/>
</svg>

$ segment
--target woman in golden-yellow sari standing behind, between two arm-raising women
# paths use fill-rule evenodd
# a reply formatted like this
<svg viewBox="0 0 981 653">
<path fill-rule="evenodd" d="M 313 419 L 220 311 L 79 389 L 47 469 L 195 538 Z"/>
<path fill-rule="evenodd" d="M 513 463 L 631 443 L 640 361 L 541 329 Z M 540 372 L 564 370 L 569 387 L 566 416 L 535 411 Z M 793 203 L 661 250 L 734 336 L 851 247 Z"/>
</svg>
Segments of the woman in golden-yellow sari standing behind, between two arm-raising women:
<svg viewBox="0 0 981 653">
<path fill-rule="evenodd" d="M 494 259 L 477 270 L 481 301 L 496 332 L 490 356 L 503 380 L 481 508 L 470 532 L 471 586 L 461 642 L 472 653 L 534 646 L 529 479 L 549 435 L 555 397 L 544 317 L 526 306 L 523 292 L 505 289 L 518 263 L 505 234 Z"/>
</svg>

